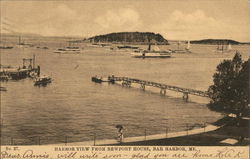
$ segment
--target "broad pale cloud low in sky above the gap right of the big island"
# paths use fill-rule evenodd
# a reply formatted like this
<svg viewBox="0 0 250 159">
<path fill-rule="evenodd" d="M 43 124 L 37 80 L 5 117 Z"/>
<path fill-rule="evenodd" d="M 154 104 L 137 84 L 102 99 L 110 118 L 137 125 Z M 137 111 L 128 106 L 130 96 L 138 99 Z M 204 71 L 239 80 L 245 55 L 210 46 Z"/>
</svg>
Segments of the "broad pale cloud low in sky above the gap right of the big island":
<svg viewBox="0 0 250 159">
<path fill-rule="evenodd" d="M 152 29 L 162 33 L 168 39 L 225 38 L 227 36 L 230 38 L 229 35 L 237 30 L 237 26 L 207 16 L 201 10 L 189 14 L 175 10 L 162 23 L 152 26 Z"/>
</svg>

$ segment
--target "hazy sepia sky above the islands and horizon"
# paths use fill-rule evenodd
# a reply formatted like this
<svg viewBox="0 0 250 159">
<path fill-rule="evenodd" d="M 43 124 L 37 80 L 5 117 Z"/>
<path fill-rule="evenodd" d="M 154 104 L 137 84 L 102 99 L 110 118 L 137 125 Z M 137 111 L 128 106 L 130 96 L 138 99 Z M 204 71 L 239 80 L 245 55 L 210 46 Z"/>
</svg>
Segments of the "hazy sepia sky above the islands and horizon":
<svg viewBox="0 0 250 159">
<path fill-rule="evenodd" d="M 155 32 L 168 40 L 250 42 L 250 0 L 2 0 L 1 33 L 90 37 Z"/>
</svg>

